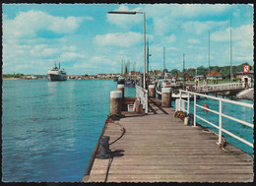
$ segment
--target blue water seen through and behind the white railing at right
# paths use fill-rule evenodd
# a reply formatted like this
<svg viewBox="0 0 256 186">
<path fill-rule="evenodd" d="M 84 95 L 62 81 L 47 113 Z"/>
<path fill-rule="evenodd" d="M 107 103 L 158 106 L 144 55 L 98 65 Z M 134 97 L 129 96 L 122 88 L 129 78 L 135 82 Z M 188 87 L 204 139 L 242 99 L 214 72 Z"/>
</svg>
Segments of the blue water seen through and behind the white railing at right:
<svg viewBox="0 0 256 186">
<path fill-rule="evenodd" d="M 210 94 L 211 95 L 211 94 Z M 215 96 L 215 95 L 213 95 Z M 220 98 L 223 98 L 223 96 L 218 96 Z M 226 97 L 225 97 L 226 98 Z M 254 102 L 252 100 L 245 100 L 245 99 L 234 99 L 235 101 L 240 101 L 240 102 L 246 102 L 246 103 L 250 103 L 250 104 L 254 104 Z M 219 112 L 220 109 L 220 105 L 219 105 L 219 101 L 218 100 L 213 100 L 210 98 L 207 99 L 197 99 L 197 104 L 204 106 L 205 104 L 208 104 L 210 109 L 213 109 L 215 111 Z M 172 102 L 172 105 L 174 105 L 175 107 L 175 102 Z M 185 108 L 187 109 L 187 104 L 185 104 Z M 190 101 L 190 113 L 194 114 L 194 101 Z M 219 126 L 219 115 L 210 112 L 210 111 L 204 111 L 202 108 L 197 107 L 196 109 L 197 111 L 197 115 L 199 115 L 200 117 L 212 122 L 213 124 L 216 124 L 217 126 Z M 231 103 L 227 103 L 227 102 L 223 102 L 223 113 L 234 117 L 236 119 L 240 119 L 242 121 L 246 121 L 248 123 L 254 124 L 253 122 L 253 117 L 254 117 L 254 109 L 253 108 L 248 108 L 245 106 L 239 106 L 239 105 L 234 105 Z M 199 123 L 200 125 L 207 127 L 209 129 L 211 129 L 212 131 L 216 132 L 217 134 L 219 134 L 219 129 L 213 127 L 212 125 L 202 121 L 201 119 L 197 118 L 197 123 Z M 227 119 L 225 117 L 223 117 L 223 128 L 231 133 L 233 133 L 234 135 L 250 142 L 253 143 L 253 129 L 251 127 L 245 126 L 243 124 L 240 124 L 238 122 L 232 121 L 230 119 Z M 225 140 L 232 144 L 233 146 L 239 148 L 240 150 L 242 150 L 243 152 L 245 152 L 248 155 L 253 156 L 253 148 L 249 147 L 246 144 L 241 143 L 240 141 L 230 137 L 229 135 L 225 134 L 223 132 L 224 138 Z"/>
</svg>

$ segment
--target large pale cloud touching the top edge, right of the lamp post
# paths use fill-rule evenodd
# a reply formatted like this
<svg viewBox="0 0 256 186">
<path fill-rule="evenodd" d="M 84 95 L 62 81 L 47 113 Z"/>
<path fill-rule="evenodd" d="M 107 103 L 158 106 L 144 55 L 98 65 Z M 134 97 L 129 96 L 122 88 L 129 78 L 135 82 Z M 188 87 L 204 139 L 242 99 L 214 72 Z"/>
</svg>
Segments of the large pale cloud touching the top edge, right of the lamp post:
<svg viewBox="0 0 256 186">
<path fill-rule="evenodd" d="M 180 30 L 183 23 L 187 20 L 196 19 L 198 17 L 207 17 L 212 15 L 221 15 L 224 11 L 230 9 L 229 5 L 200 5 L 200 4 L 159 4 L 159 5 L 146 5 L 145 10 L 147 12 L 147 20 L 152 19 L 154 23 L 155 34 L 164 34 L 168 31 Z M 184 29 L 191 31 L 191 26 L 193 31 L 197 33 L 202 33 L 204 31 L 210 30 L 211 22 L 200 24 L 198 22 L 196 25 L 188 23 L 189 26 L 185 26 Z M 184 27 L 184 26 L 183 26 Z M 199 27 L 199 28 L 197 28 Z M 202 31 L 201 31 L 202 30 Z"/>
</svg>

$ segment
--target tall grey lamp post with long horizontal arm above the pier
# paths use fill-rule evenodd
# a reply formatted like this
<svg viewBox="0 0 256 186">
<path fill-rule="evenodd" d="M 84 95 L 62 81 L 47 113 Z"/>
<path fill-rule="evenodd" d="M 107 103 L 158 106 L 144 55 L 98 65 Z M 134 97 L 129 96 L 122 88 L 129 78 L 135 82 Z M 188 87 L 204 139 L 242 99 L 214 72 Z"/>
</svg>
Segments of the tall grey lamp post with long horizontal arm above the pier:
<svg viewBox="0 0 256 186">
<path fill-rule="evenodd" d="M 146 90 L 146 23 L 145 12 L 135 11 L 109 11 L 108 14 L 143 14 L 143 34 L 144 34 L 144 73 L 143 73 L 143 89 Z"/>
</svg>

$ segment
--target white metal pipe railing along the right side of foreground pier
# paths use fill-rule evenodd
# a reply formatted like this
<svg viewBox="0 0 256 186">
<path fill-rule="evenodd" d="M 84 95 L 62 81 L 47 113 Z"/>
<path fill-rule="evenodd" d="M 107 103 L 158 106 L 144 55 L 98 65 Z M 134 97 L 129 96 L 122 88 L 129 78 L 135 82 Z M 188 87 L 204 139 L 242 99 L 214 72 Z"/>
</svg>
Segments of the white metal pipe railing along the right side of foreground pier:
<svg viewBox="0 0 256 186">
<path fill-rule="evenodd" d="M 194 114 L 194 126 L 196 126 L 196 119 L 198 118 L 198 119 L 201 119 L 202 121 L 212 125 L 213 127 L 219 129 L 219 143 L 218 144 L 222 144 L 222 136 L 223 136 L 223 132 L 224 132 L 225 134 L 227 134 L 227 135 L 235 138 L 236 140 L 238 140 L 238 141 L 240 141 L 240 142 L 250 146 L 251 148 L 253 148 L 253 144 L 252 143 L 250 143 L 250 142 L 248 142 L 248 141 L 246 141 L 246 140 L 244 140 L 244 139 L 234 135 L 233 133 L 231 133 L 231 132 L 229 132 L 229 131 L 227 131 L 227 130 L 225 130 L 223 128 L 223 117 L 228 118 L 228 119 L 230 119 L 232 121 L 236 121 L 236 122 L 238 122 L 238 123 L 240 123 L 242 125 L 246 125 L 248 127 L 251 127 L 252 130 L 254 128 L 253 123 L 248 123 L 246 121 L 243 121 L 243 120 L 240 120 L 240 119 L 237 119 L 237 118 L 234 118 L 232 116 L 228 116 L 228 115 L 224 114 L 223 113 L 223 102 L 228 102 L 228 103 L 231 103 L 231 104 L 234 104 L 234 105 L 240 105 L 240 106 L 244 106 L 244 107 L 249 107 L 249 108 L 252 108 L 252 109 L 253 109 L 253 104 L 249 104 L 249 103 L 245 103 L 245 102 L 238 102 L 238 101 L 233 101 L 233 100 L 228 100 L 228 99 L 219 98 L 219 97 L 215 97 L 215 96 L 210 96 L 210 95 L 206 95 L 206 94 L 202 94 L 202 93 L 193 93 L 193 92 L 188 92 L 188 91 L 182 91 L 182 90 L 179 90 L 179 93 L 180 93 L 180 95 L 181 95 L 181 93 L 187 93 L 188 94 L 187 100 L 181 99 L 181 96 L 179 97 L 179 110 L 185 111 L 187 113 L 190 113 L 189 112 L 189 108 L 190 108 L 190 96 L 189 95 L 194 95 L 194 113 L 193 113 Z M 201 105 L 197 104 L 197 96 L 203 96 L 203 97 L 219 100 L 219 108 L 220 108 L 219 111 L 212 110 L 210 108 L 206 108 L 204 106 L 201 106 Z M 185 104 L 183 102 L 185 102 L 187 104 L 187 109 L 185 109 Z M 203 108 L 203 109 L 205 109 L 207 111 L 210 111 L 210 112 L 213 112 L 213 113 L 219 115 L 219 125 L 214 124 L 211 121 L 209 121 L 207 119 L 204 119 L 201 116 L 199 116 L 197 114 L 197 111 L 196 111 L 197 107 Z"/>
</svg>

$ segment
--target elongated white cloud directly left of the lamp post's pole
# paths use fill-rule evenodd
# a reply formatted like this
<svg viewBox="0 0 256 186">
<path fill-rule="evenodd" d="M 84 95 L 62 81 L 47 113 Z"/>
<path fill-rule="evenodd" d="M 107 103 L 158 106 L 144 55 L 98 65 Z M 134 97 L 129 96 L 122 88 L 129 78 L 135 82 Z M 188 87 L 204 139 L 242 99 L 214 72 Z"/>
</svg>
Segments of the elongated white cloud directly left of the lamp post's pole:
<svg viewBox="0 0 256 186">
<path fill-rule="evenodd" d="M 127 33 L 107 33 L 103 35 L 96 35 L 95 42 L 98 45 L 108 46 L 123 46 L 130 47 L 138 43 L 142 43 L 142 33 L 129 31 Z"/>
</svg>

